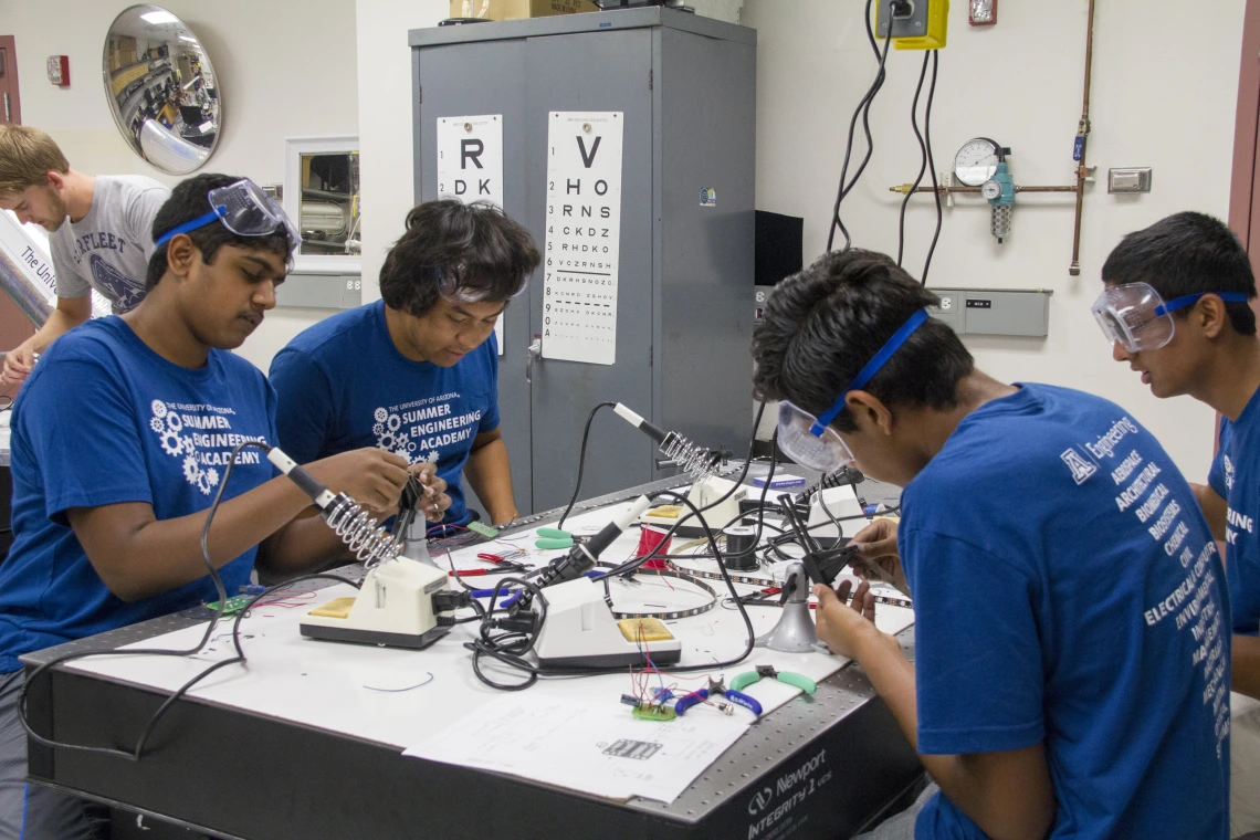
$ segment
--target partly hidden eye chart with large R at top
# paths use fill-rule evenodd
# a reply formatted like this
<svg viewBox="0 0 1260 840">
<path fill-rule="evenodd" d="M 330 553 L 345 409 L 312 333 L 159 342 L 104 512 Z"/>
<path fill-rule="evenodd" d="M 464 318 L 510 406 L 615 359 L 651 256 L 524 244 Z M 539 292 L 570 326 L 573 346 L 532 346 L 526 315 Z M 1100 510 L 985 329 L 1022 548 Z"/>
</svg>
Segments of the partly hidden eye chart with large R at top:
<svg viewBox="0 0 1260 840">
<path fill-rule="evenodd" d="M 438 117 L 437 195 L 503 207 L 503 115 Z M 494 335 L 501 356 L 501 317 Z"/>
</svg>

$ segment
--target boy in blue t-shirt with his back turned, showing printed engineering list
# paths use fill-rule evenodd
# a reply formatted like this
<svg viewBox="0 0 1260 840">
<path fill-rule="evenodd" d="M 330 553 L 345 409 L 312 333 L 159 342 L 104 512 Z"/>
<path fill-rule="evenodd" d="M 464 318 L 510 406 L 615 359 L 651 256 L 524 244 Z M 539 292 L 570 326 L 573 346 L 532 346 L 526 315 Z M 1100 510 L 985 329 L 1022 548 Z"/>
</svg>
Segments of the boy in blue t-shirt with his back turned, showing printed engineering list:
<svg viewBox="0 0 1260 840">
<path fill-rule="evenodd" d="M 915 662 L 866 583 L 815 589 L 939 786 L 873 836 L 1222 840 L 1228 604 L 1189 486 L 1119 406 L 976 370 L 937 301 L 830 253 L 753 334 L 784 452 L 905 487 L 857 540 L 914 597 Z"/>
</svg>

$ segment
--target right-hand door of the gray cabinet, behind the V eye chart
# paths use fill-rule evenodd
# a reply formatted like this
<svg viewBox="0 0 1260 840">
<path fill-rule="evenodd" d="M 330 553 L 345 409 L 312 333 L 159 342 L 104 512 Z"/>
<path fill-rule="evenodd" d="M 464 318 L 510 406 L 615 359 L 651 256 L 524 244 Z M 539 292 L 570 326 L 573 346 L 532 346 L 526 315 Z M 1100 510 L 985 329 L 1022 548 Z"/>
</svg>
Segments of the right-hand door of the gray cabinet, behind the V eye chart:
<svg viewBox="0 0 1260 840">
<path fill-rule="evenodd" d="M 653 102 L 651 30 L 622 29 L 530 38 L 524 78 L 528 108 L 525 167 L 528 224 L 541 248 L 547 230 L 549 115 L 556 111 L 624 113 L 621 230 L 617 259 L 616 363 L 536 359 L 533 414 L 534 510 L 566 504 L 577 480 L 582 429 L 601 402 L 621 402 L 653 414 Z M 532 334 L 544 327 L 546 252 L 539 282 L 530 288 Z M 582 497 L 653 480 L 653 443 L 641 432 L 601 412 L 592 428 Z"/>
</svg>

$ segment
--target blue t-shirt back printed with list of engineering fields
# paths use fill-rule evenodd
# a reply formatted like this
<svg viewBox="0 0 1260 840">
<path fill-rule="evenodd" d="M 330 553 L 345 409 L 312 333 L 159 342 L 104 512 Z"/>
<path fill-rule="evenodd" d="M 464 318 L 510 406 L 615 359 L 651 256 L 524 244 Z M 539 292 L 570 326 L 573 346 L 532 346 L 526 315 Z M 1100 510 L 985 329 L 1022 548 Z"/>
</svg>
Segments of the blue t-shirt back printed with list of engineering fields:
<svg viewBox="0 0 1260 840">
<path fill-rule="evenodd" d="M 902 495 L 919 751 L 1045 742 L 1052 837 L 1228 836 L 1223 569 L 1186 484 L 1119 406 L 1024 384 Z M 984 837 L 942 795 L 915 836 Z"/>
</svg>

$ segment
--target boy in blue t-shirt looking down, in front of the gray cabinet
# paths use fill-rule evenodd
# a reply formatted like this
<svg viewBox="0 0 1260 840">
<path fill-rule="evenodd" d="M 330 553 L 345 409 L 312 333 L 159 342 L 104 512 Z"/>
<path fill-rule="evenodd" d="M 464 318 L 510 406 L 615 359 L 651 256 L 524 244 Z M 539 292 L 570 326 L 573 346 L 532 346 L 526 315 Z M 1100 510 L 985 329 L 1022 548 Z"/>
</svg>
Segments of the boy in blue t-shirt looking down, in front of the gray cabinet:
<svg viewBox="0 0 1260 840">
<path fill-rule="evenodd" d="M 491 524 L 515 519 L 493 335 L 539 261 L 529 232 L 491 204 L 412 209 L 381 267 L 381 300 L 305 330 L 272 360 L 284 450 L 302 461 L 378 446 L 437 465 L 447 524 L 470 518 L 461 474 Z"/>
</svg>

